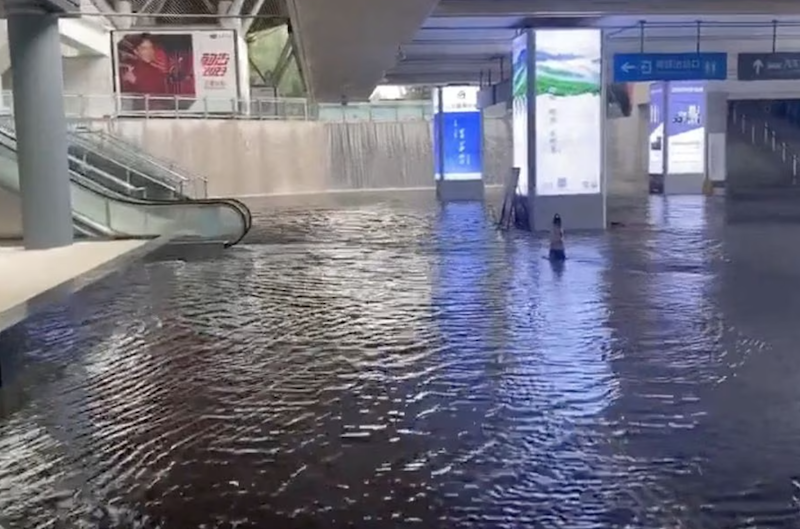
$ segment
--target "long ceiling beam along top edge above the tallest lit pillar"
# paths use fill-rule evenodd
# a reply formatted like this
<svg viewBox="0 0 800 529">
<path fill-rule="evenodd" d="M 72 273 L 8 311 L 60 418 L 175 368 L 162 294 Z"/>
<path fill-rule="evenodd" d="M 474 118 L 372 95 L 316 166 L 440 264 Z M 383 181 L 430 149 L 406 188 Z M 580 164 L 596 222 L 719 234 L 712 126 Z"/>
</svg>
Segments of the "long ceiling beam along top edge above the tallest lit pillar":
<svg viewBox="0 0 800 529">
<path fill-rule="evenodd" d="M 604 15 L 792 15 L 793 0 L 441 0 L 436 17 Z"/>
</svg>

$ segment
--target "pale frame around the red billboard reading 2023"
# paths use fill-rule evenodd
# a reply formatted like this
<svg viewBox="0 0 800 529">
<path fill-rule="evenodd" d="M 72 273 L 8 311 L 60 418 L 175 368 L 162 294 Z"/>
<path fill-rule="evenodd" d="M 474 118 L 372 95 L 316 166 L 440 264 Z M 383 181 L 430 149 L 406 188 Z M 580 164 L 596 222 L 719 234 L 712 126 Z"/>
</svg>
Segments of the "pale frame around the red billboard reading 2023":
<svg viewBox="0 0 800 529">
<path fill-rule="evenodd" d="M 209 110 L 207 105 L 203 110 L 194 110 L 194 109 L 170 109 L 170 110 L 127 110 L 123 108 L 123 101 L 125 99 L 126 94 L 122 93 L 121 86 L 120 86 L 120 79 L 119 79 L 119 65 L 120 65 L 120 58 L 119 58 L 119 48 L 118 43 L 120 42 L 120 38 L 117 38 L 118 35 L 135 35 L 135 34 L 145 34 L 149 33 L 152 35 L 185 35 L 190 34 L 194 37 L 194 33 L 230 33 L 232 36 L 231 42 L 232 44 L 232 62 L 234 65 L 234 83 L 235 83 L 235 104 L 232 105 L 230 109 L 227 110 Z M 239 54 L 239 46 L 237 45 L 239 39 L 239 32 L 236 29 L 232 28 L 209 28 L 209 27 L 181 27 L 181 28 L 161 28 L 161 27 L 137 27 L 135 29 L 114 29 L 109 32 L 108 35 L 110 46 L 111 46 L 111 86 L 113 90 L 113 97 L 114 97 L 114 109 L 115 113 L 118 116 L 142 116 L 142 115 L 163 115 L 163 116 L 192 116 L 192 115 L 236 115 L 241 114 L 242 109 L 240 105 L 242 103 L 242 86 L 241 86 L 241 72 L 239 72 L 239 61 L 240 61 L 240 54 Z M 181 96 L 176 96 L 176 100 L 180 101 Z M 186 100 L 195 100 L 195 101 L 202 101 L 204 98 L 201 97 L 186 97 Z M 207 101 L 207 99 L 206 99 Z"/>
</svg>

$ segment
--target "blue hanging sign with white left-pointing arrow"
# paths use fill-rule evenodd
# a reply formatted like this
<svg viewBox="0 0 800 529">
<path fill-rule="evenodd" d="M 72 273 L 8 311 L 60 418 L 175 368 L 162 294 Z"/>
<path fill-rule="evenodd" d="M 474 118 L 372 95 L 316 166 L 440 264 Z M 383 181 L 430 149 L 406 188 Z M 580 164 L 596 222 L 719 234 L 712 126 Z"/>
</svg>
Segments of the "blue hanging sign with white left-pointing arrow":
<svg viewBox="0 0 800 529">
<path fill-rule="evenodd" d="M 728 77 L 727 53 L 617 53 L 614 81 L 721 81 Z"/>
</svg>

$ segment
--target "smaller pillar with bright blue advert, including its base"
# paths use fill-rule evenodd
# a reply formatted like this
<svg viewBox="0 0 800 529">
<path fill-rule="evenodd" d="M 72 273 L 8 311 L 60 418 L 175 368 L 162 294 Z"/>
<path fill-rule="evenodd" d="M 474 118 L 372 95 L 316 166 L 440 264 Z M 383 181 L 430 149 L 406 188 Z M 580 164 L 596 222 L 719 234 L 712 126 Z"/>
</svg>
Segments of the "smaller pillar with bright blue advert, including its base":
<svg viewBox="0 0 800 529">
<path fill-rule="evenodd" d="M 483 117 L 477 86 L 445 86 L 434 95 L 434 159 L 439 200 L 483 200 Z"/>
</svg>

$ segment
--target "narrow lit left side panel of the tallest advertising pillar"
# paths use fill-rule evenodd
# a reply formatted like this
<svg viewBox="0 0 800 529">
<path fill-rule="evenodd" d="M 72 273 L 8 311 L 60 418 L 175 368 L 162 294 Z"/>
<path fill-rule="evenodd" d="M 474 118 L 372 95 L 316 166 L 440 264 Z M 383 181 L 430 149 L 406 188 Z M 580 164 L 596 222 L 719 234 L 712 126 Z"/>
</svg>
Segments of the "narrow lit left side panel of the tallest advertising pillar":
<svg viewBox="0 0 800 529">
<path fill-rule="evenodd" d="M 514 167 L 519 167 L 517 194 L 528 196 L 528 35 L 511 44 L 512 129 Z"/>
</svg>

